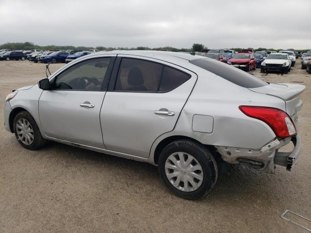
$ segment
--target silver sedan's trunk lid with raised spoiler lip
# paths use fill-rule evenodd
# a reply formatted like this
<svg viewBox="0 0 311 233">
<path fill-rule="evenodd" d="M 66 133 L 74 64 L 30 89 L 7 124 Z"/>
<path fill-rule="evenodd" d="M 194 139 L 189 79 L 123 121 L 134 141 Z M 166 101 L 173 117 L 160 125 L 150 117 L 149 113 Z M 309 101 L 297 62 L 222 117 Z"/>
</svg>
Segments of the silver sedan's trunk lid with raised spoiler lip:
<svg viewBox="0 0 311 233">
<path fill-rule="evenodd" d="M 292 118 L 294 124 L 298 122 L 296 112 L 302 108 L 300 94 L 305 90 L 305 86 L 294 83 L 270 83 L 269 85 L 249 88 L 251 91 L 275 96 L 285 101 L 286 113 Z M 296 127 L 297 128 L 297 127 Z"/>
</svg>

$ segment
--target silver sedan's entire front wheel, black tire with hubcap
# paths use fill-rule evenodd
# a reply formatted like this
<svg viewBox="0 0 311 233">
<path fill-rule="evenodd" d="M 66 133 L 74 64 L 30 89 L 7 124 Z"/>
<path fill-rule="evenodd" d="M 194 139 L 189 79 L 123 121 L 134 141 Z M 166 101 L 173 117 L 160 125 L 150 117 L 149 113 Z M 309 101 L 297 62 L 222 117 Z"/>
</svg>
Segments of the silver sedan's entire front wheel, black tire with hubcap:
<svg viewBox="0 0 311 233">
<path fill-rule="evenodd" d="M 27 111 L 19 112 L 14 117 L 13 126 L 17 141 L 24 148 L 37 150 L 46 145 L 47 140 L 42 137 L 35 119 Z M 26 135 L 23 133 L 25 130 Z"/>
</svg>

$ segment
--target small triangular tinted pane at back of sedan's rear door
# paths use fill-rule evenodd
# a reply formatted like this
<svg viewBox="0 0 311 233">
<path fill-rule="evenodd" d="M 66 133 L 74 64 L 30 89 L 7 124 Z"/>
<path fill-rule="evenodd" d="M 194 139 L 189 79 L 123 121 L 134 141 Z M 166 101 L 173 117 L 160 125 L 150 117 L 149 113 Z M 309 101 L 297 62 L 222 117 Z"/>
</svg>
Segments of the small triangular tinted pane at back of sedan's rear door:
<svg viewBox="0 0 311 233">
<path fill-rule="evenodd" d="M 163 69 L 162 79 L 159 91 L 173 90 L 177 86 L 185 83 L 190 79 L 190 75 L 177 69 L 165 66 Z"/>
</svg>

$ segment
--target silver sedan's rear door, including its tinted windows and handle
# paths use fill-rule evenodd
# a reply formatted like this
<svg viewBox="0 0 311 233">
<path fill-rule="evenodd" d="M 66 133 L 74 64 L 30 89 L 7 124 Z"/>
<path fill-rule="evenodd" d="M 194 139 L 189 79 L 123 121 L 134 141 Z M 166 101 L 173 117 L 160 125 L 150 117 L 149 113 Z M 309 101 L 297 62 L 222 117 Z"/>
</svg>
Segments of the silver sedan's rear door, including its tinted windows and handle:
<svg viewBox="0 0 311 233">
<path fill-rule="evenodd" d="M 182 67 L 118 55 L 101 110 L 105 147 L 149 157 L 155 139 L 174 129 L 196 79 Z"/>
</svg>

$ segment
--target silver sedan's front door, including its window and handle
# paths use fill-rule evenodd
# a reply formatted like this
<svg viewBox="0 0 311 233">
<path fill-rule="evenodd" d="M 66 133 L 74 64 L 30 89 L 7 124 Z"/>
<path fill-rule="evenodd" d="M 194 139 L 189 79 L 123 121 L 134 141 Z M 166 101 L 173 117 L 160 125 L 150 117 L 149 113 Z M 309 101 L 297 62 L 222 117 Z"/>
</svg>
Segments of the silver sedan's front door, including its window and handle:
<svg viewBox="0 0 311 233">
<path fill-rule="evenodd" d="M 104 148 L 100 111 L 114 59 L 84 60 L 61 71 L 50 82 L 52 90 L 39 99 L 42 132 L 49 137 L 97 148 Z M 108 68 L 109 67 L 109 68 Z"/>
</svg>

